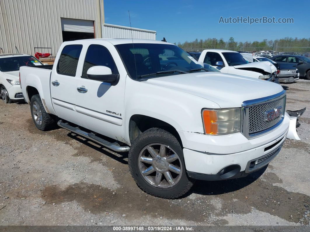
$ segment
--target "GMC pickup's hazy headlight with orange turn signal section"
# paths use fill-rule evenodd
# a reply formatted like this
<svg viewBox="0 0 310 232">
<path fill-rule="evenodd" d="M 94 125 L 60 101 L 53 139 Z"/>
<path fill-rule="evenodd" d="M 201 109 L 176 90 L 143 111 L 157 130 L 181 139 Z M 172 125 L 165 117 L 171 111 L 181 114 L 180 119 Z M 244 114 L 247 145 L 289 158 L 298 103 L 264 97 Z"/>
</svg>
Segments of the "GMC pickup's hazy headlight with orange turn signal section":
<svg viewBox="0 0 310 232">
<path fill-rule="evenodd" d="M 241 109 L 202 110 L 205 134 L 222 135 L 240 132 Z"/>
</svg>

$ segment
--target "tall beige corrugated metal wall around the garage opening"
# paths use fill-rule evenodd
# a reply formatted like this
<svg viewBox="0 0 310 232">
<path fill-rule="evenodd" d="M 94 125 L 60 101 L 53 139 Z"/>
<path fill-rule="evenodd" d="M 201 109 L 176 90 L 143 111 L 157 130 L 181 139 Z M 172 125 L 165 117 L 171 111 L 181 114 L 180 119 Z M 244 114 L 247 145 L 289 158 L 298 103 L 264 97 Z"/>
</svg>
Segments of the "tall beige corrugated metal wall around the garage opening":
<svg viewBox="0 0 310 232">
<path fill-rule="evenodd" d="M 101 7 L 102 22 L 97 0 L 0 0 L 0 47 L 4 53 L 17 48 L 31 55 L 34 47 L 51 47 L 56 55 L 63 42 L 60 18 L 93 20 L 95 37 L 100 38 L 103 1 Z"/>
</svg>

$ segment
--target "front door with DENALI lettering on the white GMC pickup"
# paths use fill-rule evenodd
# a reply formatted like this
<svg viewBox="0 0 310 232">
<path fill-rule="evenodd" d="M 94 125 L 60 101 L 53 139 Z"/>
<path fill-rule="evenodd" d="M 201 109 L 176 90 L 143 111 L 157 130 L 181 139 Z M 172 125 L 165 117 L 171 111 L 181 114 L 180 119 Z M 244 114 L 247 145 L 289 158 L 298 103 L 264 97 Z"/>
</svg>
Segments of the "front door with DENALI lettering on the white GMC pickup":
<svg viewBox="0 0 310 232">
<path fill-rule="evenodd" d="M 110 138 L 125 142 L 123 130 L 124 115 L 124 91 L 126 70 L 116 63 L 122 61 L 115 47 L 109 43 L 100 41 L 96 44 L 91 41 L 82 52 L 85 57 L 80 70 L 79 88 L 85 88 L 86 92 L 78 92 L 76 110 L 81 120 L 81 125 L 87 129 L 104 134 Z M 116 62 L 115 59 L 118 61 Z M 119 74 L 117 84 L 111 85 L 102 81 L 89 80 L 87 70 L 93 66 L 106 66 L 112 74 Z"/>
</svg>

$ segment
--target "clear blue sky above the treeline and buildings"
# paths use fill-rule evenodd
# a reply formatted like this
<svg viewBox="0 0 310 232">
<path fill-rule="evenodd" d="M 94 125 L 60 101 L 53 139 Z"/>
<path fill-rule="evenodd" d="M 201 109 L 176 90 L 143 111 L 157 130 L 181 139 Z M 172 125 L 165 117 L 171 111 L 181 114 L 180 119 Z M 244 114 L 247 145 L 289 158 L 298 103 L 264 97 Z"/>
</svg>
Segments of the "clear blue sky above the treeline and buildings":
<svg viewBox="0 0 310 232">
<path fill-rule="evenodd" d="M 104 0 L 105 23 L 157 31 L 157 40 L 193 41 L 196 38 L 234 37 L 237 42 L 283 37 L 310 37 L 309 0 L 299 1 L 125 1 Z M 220 17 L 294 18 L 294 24 L 219 24 Z"/>
</svg>

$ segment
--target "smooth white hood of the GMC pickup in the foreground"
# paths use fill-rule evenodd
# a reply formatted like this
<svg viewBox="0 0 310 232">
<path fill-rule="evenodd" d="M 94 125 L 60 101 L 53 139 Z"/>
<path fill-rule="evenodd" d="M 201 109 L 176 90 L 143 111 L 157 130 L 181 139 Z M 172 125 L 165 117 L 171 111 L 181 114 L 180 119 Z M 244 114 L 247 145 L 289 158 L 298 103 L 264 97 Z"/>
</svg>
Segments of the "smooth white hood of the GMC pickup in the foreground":
<svg viewBox="0 0 310 232">
<path fill-rule="evenodd" d="M 283 91 L 279 84 L 220 72 L 156 77 L 145 82 L 206 98 L 217 103 L 221 108 L 241 107 L 244 101 Z"/>
</svg>

